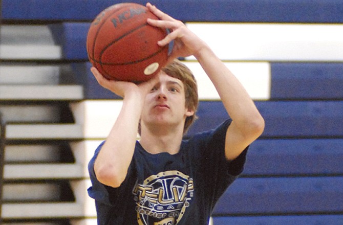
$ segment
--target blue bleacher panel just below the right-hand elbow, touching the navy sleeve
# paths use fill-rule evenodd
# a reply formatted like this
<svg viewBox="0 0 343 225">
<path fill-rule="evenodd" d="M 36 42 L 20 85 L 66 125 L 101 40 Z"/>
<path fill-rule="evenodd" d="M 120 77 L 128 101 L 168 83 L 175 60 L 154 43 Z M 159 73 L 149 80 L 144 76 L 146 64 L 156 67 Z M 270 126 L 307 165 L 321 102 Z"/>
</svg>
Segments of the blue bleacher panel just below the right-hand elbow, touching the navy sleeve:
<svg viewBox="0 0 343 225">
<path fill-rule="evenodd" d="M 343 174 L 343 139 L 263 139 L 250 145 L 243 175 Z"/>
</svg>

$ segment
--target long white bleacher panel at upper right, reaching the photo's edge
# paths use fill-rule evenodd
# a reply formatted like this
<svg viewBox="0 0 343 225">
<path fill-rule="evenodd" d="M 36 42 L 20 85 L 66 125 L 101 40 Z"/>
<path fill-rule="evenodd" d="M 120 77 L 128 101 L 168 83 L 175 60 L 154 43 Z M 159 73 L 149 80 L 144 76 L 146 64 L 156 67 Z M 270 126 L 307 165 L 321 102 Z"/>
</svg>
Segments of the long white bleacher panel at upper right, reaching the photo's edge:
<svg viewBox="0 0 343 225">
<path fill-rule="evenodd" d="M 221 59 L 341 61 L 343 25 L 187 23 Z M 194 57 L 189 57 L 194 59 Z"/>
</svg>

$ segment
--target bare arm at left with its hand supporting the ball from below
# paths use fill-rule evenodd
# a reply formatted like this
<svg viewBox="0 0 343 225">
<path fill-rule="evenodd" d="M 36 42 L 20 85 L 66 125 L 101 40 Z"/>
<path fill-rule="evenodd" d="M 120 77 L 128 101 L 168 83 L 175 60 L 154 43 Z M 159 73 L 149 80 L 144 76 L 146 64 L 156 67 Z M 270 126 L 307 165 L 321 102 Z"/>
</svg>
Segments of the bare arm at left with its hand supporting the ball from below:
<svg viewBox="0 0 343 225">
<path fill-rule="evenodd" d="M 123 97 L 119 116 L 94 164 L 94 172 L 99 182 L 119 187 L 126 177 L 133 157 L 145 95 L 152 85 L 151 82 L 136 85 L 131 82 L 109 81 L 95 68 L 91 71 L 101 86 Z"/>
</svg>

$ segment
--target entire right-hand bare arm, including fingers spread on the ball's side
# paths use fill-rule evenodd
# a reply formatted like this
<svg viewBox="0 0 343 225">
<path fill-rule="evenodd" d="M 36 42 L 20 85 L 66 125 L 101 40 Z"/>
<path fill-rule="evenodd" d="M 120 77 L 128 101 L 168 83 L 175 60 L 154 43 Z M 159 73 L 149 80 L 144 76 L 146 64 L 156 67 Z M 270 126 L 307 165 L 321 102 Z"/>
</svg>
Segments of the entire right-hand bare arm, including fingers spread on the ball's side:
<svg viewBox="0 0 343 225">
<path fill-rule="evenodd" d="M 146 7 L 160 18 L 148 19 L 150 25 L 171 30 L 170 34 L 158 42 L 160 46 L 164 46 L 174 40 L 170 60 L 194 55 L 215 85 L 232 119 L 226 133 L 225 155 L 228 160 L 237 158 L 264 130 L 264 120 L 258 109 L 243 85 L 203 40 L 192 33 L 183 22 L 168 16 L 149 3 Z"/>
</svg>

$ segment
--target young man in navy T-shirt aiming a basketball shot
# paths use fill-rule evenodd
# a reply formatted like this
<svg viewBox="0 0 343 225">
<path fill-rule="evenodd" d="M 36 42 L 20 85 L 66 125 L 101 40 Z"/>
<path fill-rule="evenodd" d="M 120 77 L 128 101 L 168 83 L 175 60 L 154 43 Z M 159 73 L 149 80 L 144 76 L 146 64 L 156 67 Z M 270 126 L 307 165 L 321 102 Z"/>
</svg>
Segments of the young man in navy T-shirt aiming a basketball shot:
<svg viewBox="0 0 343 225">
<path fill-rule="evenodd" d="M 207 225 L 217 200 L 242 172 L 246 149 L 263 132 L 264 120 L 204 41 L 181 21 L 146 6 L 160 18 L 148 24 L 171 31 L 158 42 L 174 41 L 170 64 L 139 85 L 109 81 L 91 69 L 100 85 L 123 97 L 123 105 L 89 164 L 89 195 L 98 224 Z M 196 117 L 198 95 L 191 72 L 174 59 L 189 55 L 216 86 L 232 120 L 183 140 Z"/>
</svg>

